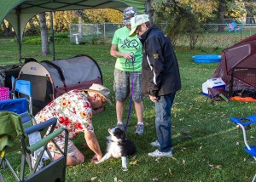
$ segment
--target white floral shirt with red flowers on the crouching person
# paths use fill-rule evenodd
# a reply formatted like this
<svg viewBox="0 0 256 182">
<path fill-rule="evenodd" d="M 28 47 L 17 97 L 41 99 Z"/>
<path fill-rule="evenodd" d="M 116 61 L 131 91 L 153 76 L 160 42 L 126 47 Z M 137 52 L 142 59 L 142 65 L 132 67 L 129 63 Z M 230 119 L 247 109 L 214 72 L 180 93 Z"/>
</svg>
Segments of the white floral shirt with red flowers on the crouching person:
<svg viewBox="0 0 256 182">
<path fill-rule="evenodd" d="M 42 111 L 39 111 L 35 119 L 39 123 L 52 117 L 57 118 L 55 129 L 67 128 L 68 139 L 73 139 L 81 132 L 94 133 L 92 108 L 88 95 L 82 90 L 71 90 L 66 94 L 62 94 L 46 105 Z M 55 139 L 56 142 L 63 143 L 63 137 L 64 135 Z"/>
</svg>

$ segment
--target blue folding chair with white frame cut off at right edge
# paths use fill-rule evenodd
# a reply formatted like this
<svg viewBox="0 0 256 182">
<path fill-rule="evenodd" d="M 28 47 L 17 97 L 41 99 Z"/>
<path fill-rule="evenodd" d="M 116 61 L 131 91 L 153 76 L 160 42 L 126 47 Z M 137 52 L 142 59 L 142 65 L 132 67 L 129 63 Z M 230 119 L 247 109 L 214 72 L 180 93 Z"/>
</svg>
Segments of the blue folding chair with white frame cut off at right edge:
<svg viewBox="0 0 256 182">
<path fill-rule="evenodd" d="M 230 120 L 232 122 L 235 122 L 242 130 L 243 134 L 243 140 L 245 143 L 245 151 L 253 156 L 253 158 L 256 161 L 256 146 L 248 144 L 247 141 L 247 133 L 246 131 L 250 128 L 251 124 L 256 123 L 256 116 L 250 116 L 250 117 L 230 117 Z M 252 181 L 255 181 L 256 174 L 253 177 Z"/>
</svg>

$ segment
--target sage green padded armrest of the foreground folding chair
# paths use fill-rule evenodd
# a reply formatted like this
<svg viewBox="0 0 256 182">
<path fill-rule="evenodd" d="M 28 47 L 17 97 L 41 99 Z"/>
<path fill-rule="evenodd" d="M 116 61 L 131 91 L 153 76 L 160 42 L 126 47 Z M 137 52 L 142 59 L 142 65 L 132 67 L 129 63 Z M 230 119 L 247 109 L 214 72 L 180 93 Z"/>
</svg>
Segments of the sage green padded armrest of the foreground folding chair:
<svg viewBox="0 0 256 182">
<path fill-rule="evenodd" d="M 60 135 L 63 131 L 65 131 L 66 135 L 68 134 L 67 128 L 58 128 L 53 133 L 44 137 L 44 139 L 41 139 L 39 142 L 27 147 L 27 149 L 31 152 L 37 151 L 40 147 L 47 145 L 50 140 L 52 140 L 55 137 L 57 137 L 58 135 Z"/>
</svg>

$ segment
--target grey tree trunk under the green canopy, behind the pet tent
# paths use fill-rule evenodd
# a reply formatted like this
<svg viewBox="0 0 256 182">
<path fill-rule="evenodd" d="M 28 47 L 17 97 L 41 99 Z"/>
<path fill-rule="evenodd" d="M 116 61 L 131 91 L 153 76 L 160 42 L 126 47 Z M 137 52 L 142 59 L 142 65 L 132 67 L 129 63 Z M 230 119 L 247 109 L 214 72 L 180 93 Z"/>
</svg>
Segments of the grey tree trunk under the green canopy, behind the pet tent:
<svg viewBox="0 0 256 182">
<path fill-rule="evenodd" d="M 49 54 L 48 27 L 46 26 L 45 13 L 39 14 L 39 22 L 40 22 L 40 31 L 41 31 L 41 45 L 42 45 L 41 55 L 44 56 Z"/>
</svg>

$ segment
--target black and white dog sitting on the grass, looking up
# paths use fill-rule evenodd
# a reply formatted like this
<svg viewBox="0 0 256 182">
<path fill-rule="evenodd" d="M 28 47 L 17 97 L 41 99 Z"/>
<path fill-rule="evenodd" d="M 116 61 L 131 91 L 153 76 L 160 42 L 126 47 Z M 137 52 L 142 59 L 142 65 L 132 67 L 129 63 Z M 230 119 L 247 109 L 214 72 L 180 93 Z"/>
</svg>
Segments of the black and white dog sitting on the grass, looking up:
<svg viewBox="0 0 256 182">
<path fill-rule="evenodd" d="M 126 139 L 125 132 L 118 128 L 109 128 L 108 133 L 108 149 L 102 160 L 96 163 L 104 162 L 111 156 L 114 158 L 122 158 L 122 168 L 127 170 L 126 156 L 131 156 L 136 153 L 136 145 L 130 140 Z"/>
</svg>

